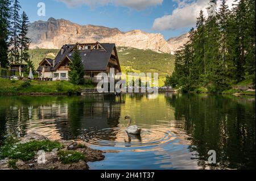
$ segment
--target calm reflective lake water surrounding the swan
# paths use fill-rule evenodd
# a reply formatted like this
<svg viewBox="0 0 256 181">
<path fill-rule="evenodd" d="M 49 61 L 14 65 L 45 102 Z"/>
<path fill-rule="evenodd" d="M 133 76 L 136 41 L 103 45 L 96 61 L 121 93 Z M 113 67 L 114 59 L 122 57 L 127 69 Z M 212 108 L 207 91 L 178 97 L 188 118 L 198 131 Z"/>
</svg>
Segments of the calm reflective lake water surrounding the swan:
<svg viewBox="0 0 256 181">
<path fill-rule="evenodd" d="M 126 115 L 141 137 L 126 134 Z M 31 132 L 104 150 L 90 169 L 255 169 L 254 96 L 0 96 L 0 139 Z"/>
</svg>

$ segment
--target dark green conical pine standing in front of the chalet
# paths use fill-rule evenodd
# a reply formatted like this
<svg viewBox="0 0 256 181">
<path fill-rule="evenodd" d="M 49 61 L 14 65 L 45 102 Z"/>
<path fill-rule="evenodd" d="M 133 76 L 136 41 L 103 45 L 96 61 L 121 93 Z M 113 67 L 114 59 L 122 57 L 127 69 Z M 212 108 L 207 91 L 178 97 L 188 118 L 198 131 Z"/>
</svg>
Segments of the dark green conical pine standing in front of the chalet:
<svg viewBox="0 0 256 181">
<path fill-rule="evenodd" d="M 84 84 L 84 65 L 82 64 L 82 58 L 78 50 L 75 50 L 72 56 L 71 71 L 69 72 L 70 82 L 74 85 Z"/>
</svg>

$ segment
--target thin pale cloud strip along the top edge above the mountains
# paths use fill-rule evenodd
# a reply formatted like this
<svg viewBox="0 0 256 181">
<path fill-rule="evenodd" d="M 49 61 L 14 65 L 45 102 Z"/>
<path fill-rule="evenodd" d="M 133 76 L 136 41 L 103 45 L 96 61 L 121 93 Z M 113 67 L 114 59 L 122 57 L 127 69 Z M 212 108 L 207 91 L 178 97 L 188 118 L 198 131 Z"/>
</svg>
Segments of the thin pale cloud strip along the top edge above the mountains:
<svg viewBox="0 0 256 181">
<path fill-rule="evenodd" d="M 76 7 L 80 5 L 88 5 L 90 7 L 95 7 L 97 5 L 116 5 L 129 7 L 135 10 L 143 10 L 150 6 L 162 5 L 163 0 L 56 0 L 59 2 L 64 2 L 69 7 Z"/>
</svg>

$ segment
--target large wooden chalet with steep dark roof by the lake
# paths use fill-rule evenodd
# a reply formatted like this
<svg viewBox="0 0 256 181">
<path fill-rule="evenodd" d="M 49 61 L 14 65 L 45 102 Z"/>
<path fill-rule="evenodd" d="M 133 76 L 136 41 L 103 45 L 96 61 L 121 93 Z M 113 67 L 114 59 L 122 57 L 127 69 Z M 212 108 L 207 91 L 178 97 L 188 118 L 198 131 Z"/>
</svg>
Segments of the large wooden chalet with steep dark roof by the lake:
<svg viewBox="0 0 256 181">
<path fill-rule="evenodd" d="M 72 64 L 74 50 L 79 50 L 84 64 L 85 78 L 97 81 L 99 73 L 110 73 L 110 68 L 115 69 L 115 74 L 121 72 L 115 44 L 110 43 L 76 43 L 73 45 L 63 45 L 54 60 L 44 58 L 38 71 L 40 78 L 49 78 L 52 81 L 68 81 L 68 73 Z"/>
</svg>

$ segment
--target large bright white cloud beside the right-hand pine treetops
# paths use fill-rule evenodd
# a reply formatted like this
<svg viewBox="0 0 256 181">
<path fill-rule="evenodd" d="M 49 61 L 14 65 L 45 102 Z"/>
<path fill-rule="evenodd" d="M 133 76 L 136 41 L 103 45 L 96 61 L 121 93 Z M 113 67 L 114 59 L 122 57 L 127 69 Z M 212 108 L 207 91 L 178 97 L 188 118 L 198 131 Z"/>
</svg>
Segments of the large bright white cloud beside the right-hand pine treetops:
<svg viewBox="0 0 256 181">
<path fill-rule="evenodd" d="M 172 14 L 164 15 L 161 18 L 155 19 L 153 29 L 158 31 L 176 30 L 185 27 L 194 27 L 196 18 L 201 10 L 204 15 L 207 15 L 207 0 L 172 0 L 177 3 L 177 7 Z M 234 0 L 227 0 L 229 8 L 232 8 Z M 221 1 L 218 1 L 218 7 Z"/>
</svg>

